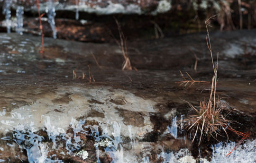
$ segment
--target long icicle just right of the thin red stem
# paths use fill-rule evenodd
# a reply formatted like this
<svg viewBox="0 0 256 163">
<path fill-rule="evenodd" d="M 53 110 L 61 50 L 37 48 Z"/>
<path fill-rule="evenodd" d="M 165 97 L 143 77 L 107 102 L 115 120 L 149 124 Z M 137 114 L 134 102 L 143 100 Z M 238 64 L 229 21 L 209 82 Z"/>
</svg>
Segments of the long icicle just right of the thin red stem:
<svg viewBox="0 0 256 163">
<path fill-rule="evenodd" d="M 54 6 L 54 1 L 53 0 L 49 0 L 47 2 L 47 7 L 46 7 L 46 13 L 48 16 L 48 23 L 50 24 L 52 31 L 53 31 L 53 38 L 56 38 L 56 29 L 55 29 L 55 6 Z"/>
</svg>

